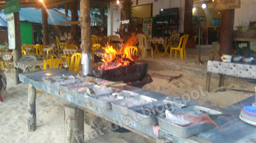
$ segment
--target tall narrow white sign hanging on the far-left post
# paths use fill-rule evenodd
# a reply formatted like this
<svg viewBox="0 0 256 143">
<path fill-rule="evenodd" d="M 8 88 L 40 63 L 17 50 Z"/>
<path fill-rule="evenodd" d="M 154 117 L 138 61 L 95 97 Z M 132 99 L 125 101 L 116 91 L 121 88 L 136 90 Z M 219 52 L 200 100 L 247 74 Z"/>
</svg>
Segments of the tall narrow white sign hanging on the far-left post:
<svg viewBox="0 0 256 143">
<path fill-rule="evenodd" d="M 15 42 L 15 25 L 14 25 L 14 14 L 7 14 L 7 27 L 8 27 L 8 44 L 9 49 L 13 50 L 16 47 Z"/>
</svg>

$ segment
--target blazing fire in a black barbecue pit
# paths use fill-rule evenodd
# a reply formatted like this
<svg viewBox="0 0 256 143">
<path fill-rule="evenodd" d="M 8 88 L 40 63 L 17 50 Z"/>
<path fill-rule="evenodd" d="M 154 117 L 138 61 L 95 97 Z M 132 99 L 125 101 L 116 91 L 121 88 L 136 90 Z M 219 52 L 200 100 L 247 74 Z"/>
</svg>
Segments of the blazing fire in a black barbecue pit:
<svg viewBox="0 0 256 143">
<path fill-rule="evenodd" d="M 110 81 L 132 82 L 142 80 L 148 72 L 148 64 L 135 63 L 128 46 L 134 45 L 136 37 L 131 37 L 119 50 L 112 46 L 102 47 L 106 53 L 101 59 L 104 64 L 93 68 L 96 77 Z"/>
</svg>

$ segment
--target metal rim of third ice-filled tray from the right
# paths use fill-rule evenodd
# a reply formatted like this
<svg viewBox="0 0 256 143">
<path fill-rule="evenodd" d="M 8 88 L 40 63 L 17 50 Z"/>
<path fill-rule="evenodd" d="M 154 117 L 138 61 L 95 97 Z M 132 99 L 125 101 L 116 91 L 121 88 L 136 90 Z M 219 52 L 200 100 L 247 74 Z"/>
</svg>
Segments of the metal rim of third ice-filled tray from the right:
<svg viewBox="0 0 256 143">
<path fill-rule="evenodd" d="M 146 99 L 148 101 L 157 101 L 157 99 L 154 99 L 152 97 L 148 97 L 145 95 L 139 95 L 139 96 L 134 96 L 132 97 L 136 100 L 141 100 L 141 99 Z M 128 107 L 124 107 L 120 105 L 120 102 L 125 102 L 126 99 L 121 99 L 121 100 L 116 100 L 116 101 L 111 101 L 111 105 L 112 105 L 112 110 L 115 112 L 118 112 L 122 115 L 129 115 L 129 110 Z"/>
</svg>

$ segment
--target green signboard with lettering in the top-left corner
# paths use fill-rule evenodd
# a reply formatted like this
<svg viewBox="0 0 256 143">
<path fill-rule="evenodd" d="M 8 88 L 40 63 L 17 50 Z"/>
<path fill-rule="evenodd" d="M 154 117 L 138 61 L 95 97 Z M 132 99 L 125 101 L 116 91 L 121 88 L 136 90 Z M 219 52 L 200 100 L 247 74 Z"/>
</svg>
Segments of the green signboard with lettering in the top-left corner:
<svg viewBox="0 0 256 143">
<path fill-rule="evenodd" d="M 10 14 L 20 11 L 20 0 L 6 0 L 4 14 Z"/>
</svg>

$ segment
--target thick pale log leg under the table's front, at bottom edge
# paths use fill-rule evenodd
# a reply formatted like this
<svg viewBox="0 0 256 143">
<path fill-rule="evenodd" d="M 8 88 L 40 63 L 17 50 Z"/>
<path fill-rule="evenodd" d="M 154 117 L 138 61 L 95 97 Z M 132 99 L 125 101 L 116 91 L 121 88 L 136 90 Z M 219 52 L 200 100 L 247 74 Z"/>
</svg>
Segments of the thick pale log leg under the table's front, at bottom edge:
<svg viewBox="0 0 256 143">
<path fill-rule="evenodd" d="M 84 111 L 75 105 L 64 105 L 65 143 L 84 143 Z"/>
</svg>

